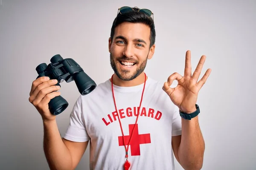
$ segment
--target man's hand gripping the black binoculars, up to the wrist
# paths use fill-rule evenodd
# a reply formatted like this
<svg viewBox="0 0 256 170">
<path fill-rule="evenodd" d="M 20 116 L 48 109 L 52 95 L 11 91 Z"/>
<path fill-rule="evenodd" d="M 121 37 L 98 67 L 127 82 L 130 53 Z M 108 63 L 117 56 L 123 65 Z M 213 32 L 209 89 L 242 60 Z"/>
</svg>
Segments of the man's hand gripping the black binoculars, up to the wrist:
<svg viewBox="0 0 256 170">
<path fill-rule="evenodd" d="M 60 86 L 56 85 L 57 83 L 56 79 L 49 80 L 49 77 L 39 77 L 32 82 L 29 102 L 41 114 L 43 121 L 55 120 L 55 116 L 50 113 L 48 104 L 51 99 L 61 95 L 58 91 Z"/>
</svg>

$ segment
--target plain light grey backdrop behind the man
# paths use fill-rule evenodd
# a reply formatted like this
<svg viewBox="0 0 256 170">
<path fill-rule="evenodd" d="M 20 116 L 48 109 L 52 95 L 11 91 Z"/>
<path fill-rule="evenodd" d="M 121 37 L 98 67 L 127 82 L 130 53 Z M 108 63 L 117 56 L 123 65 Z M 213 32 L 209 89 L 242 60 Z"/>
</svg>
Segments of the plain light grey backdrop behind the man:
<svg viewBox="0 0 256 170">
<path fill-rule="evenodd" d="M 0 169 L 49 169 L 41 116 L 28 100 L 35 68 L 60 54 L 78 62 L 97 84 L 109 79 L 108 38 L 121 6 L 154 12 L 149 77 L 165 82 L 174 72 L 183 75 L 187 50 L 192 71 L 207 56 L 201 77 L 207 68 L 212 73 L 197 102 L 206 143 L 202 169 L 255 169 L 255 0 L 1 0 Z M 57 116 L 63 135 L 80 94 L 75 82 L 61 83 L 60 91 L 69 102 Z M 175 167 L 182 170 L 176 160 Z M 89 149 L 77 170 L 89 170 Z"/>
</svg>

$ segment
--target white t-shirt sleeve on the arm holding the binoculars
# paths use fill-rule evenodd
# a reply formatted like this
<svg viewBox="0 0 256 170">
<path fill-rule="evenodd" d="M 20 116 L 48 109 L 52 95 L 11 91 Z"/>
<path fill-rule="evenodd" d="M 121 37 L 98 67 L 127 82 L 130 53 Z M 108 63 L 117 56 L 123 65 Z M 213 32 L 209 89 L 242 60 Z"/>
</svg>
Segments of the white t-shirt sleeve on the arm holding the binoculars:
<svg viewBox="0 0 256 170">
<path fill-rule="evenodd" d="M 81 96 L 73 106 L 70 113 L 70 123 L 63 138 L 73 142 L 86 142 L 90 139 L 84 123 Z"/>
</svg>

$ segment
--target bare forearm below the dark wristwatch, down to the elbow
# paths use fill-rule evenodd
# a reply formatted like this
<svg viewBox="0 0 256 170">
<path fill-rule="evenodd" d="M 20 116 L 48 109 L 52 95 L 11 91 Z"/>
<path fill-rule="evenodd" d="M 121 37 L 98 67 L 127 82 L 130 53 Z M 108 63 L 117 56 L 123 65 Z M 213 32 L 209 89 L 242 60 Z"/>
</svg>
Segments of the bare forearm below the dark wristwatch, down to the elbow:
<svg viewBox="0 0 256 170">
<path fill-rule="evenodd" d="M 203 166 L 204 139 L 199 127 L 198 116 L 191 120 L 182 119 L 182 135 L 178 157 L 185 170 L 200 170 Z"/>
</svg>

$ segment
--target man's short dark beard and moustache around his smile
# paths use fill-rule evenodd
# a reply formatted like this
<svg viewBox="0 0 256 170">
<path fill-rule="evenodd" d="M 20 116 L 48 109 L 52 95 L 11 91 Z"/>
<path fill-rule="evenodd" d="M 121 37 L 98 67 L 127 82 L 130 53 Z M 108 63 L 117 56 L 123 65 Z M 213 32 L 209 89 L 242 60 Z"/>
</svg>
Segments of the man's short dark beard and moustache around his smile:
<svg viewBox="0 0 256 170">
<path fill-rule="evenodd" d="M 118 62 L 120 59 L 130 61 L 130 62 L 135 62 L 136 63 L 135 65 L 138 65 L 136 71 L 134 71 L 134 73 L 132 73 L 130 70 L 125 70 L 125 69 L 118 70 L 116 65 L 119 64 Z M 111 67 L 112 67 L 114 73 L 116 74 L 116 76 L 119 79 L 124 80 L 124 81 L 130 81 L 130 80 L 138 77 L 144 71 L 146 64 L 147 64 L 147 59 L 148 59 L 148 56 L 146 57 L 145 60 L 143 60 L 142 63 L 139 63 L 137 60 L 134 60 L 134 59 L 131 59 L 131 58 L 128 58 L 125 56 L 116 57 L 116 59 L 114 59 L 113 55 L 110 54 L 110 64 L 111 64 Z"/>
</svg>

